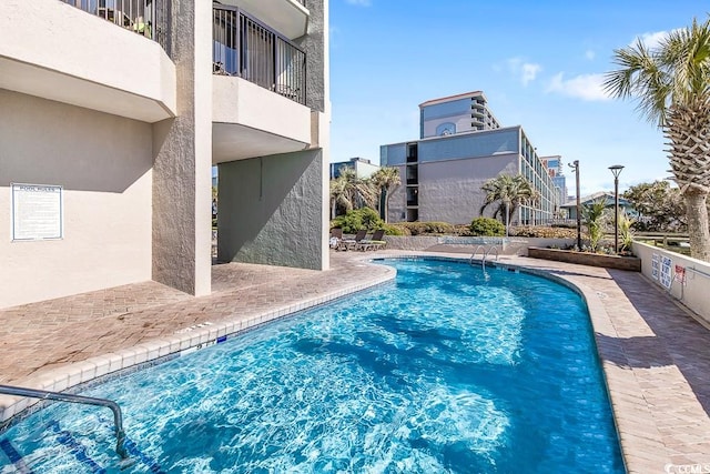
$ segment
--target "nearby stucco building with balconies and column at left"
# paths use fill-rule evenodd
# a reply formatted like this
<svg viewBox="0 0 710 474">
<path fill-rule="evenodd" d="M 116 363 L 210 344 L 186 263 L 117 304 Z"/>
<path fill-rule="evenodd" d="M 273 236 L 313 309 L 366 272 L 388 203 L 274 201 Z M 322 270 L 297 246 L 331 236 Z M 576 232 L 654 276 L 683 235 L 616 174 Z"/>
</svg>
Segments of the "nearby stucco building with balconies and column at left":
<svg viewBox="0 0 710 474">
<path fill-rule="evenodd" d="M 327 269 L 327 0 L 3 0 L 0 307 Z"/>
</svg>

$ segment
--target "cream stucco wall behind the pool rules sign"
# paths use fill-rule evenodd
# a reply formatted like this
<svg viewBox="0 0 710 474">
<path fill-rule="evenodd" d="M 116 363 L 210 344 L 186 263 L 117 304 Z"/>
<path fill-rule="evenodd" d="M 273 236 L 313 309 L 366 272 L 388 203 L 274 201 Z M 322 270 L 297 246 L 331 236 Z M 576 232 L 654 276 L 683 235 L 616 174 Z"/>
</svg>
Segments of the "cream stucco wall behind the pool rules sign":
<svg viewBox="0 0 710 474">
<path fill-rule="evenodd" d="M 0 90 L 0 307 L 151 279 L 151 125 Z M 11 242 L 11 183 L 63 186 L 64 238 Z"/>
</svg>

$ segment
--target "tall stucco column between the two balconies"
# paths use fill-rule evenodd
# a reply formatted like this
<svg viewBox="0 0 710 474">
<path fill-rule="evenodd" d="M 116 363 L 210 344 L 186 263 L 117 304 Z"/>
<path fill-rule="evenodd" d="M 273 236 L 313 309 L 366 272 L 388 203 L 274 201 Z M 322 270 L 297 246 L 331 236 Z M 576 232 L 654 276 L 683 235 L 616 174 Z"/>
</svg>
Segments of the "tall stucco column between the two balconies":
<svg viewBox="0 0 710 474">
<path fill-rule="evenodd" d="M 211 291 L 212 2 L 171 2 L 178 117 L 153 125 L 153 280 Z"/>
</svg>

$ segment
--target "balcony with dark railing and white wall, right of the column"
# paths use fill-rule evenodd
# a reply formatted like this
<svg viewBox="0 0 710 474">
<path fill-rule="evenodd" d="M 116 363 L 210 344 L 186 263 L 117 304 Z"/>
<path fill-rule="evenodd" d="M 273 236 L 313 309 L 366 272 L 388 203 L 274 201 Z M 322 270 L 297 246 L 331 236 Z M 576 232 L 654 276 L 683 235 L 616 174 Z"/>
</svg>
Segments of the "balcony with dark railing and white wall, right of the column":
<svg viewBox="0 0 710 474">
<path fill-rule="evenodd" d="M 213 163 L 317 145 L 303 50 L 246 11 L 213 4 L 212 58 Z"/>
</svg>

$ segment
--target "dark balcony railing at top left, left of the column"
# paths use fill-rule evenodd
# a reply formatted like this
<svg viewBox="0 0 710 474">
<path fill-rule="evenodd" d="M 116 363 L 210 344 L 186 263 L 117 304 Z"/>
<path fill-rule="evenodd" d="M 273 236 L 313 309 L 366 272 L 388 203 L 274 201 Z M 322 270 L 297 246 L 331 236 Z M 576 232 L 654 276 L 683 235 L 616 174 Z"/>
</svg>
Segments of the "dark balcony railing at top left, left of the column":
<svg viewBox="0 0 710 474">
<path fill-rule="evenodd" d="M 60 0 L 153 39 L 168 51 L 169 0 Z"/>
</svg>

